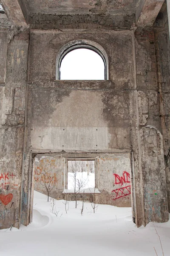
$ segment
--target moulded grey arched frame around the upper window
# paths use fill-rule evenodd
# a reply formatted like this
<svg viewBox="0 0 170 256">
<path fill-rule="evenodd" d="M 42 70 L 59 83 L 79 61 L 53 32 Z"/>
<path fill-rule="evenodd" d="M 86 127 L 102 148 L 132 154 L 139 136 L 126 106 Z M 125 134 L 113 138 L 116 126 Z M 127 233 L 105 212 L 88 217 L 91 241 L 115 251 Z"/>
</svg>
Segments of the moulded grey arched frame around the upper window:
<svg viewBox="0 0 170 256">
<path fill-rule="evenodd" d="M 103 49 L 101 45 L 97 44 L 94 41 L 84 40 L 84 39 L 71 41 L 65 44 L 59 50 L 56 58 L 56 80 L 60 80 L 60 67 L 61 67 L 62 59 L 65 57 L 65 55 L 67 55 L 68 52 L 71 52 L 74 49 L 81 49 L 81 48 L 90 49 L 99 54 L 99 56 L 102 58 L 105 65 L 105 80 L 109 80 L 108 55 L 105 49 Z"/>
</svg>

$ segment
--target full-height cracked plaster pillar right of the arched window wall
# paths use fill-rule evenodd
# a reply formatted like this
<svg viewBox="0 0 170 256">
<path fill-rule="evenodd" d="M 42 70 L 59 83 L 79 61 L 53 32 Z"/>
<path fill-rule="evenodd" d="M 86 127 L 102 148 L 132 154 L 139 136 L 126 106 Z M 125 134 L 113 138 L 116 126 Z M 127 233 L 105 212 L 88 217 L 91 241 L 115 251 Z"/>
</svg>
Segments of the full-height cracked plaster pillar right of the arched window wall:
<svg viewBox="0 0 170 256">
<path fill-rule="evenodd" d="M 164 185 L 165 184 L 165 172 L 164 172 L 164 158 L 163 153 L 163 139 L 159 137 L 158 149 L 152 157 L 156 156 L 158 161 L 158 167 L 152 166 L 154 162 L 149 157 L 150 143 L 155 144 L 154 140 L 156 135 L 151 136 L 153 128 L 156 134 L 159 131 L 162 132 L 162 124 L 160 117 L 160 104 L 159 104 L 159 87 L 157 76 L 157 59 L 156 59 L 156 44 L 155 33 L 152 29 L 137 29 L 135 32 L 135 46 L 136 46 L 136 87 L 138 90 L 138 105 L 139 105 L 139 129 L 140 129 L 140 142 L 139 142 L 139 160 L 141 161 L 141 176 L 139 177 L 140 186 L 143 187 L 143 202 L 144 204 L 144 224 L 149 221 L 159 221 L 162 219 L 167 221 L 167 194 Z M 142 127 L 143 126 L 143 127 Z M 147 129 L 144 128 L 147 127 Z M 145 134 L 148 133 L 148 134 Z M 148 154 L 147 154 L 148 151 Z M 160 160 L 161 159 L 161 160 Z M 162 171 L 160 170 L 162 169 Z M 160 176 L 160 172 L 161 176 Z M 139 175 L 136 174 L 136 180 Z M 159 179 L 159 181 L 158 181 Z M 150 183 L 152 180 L 152 184 Z M 159 192 L 157 198 L 153 191 Z M 161 204 L 164 205 L 162 206 Z M 152 207 L 151 207 L 152 205 Z M 159 206 L 159 207 L 158 207 Z M 154 210 L 157 212 L 154 212 Z"/>
</svg>

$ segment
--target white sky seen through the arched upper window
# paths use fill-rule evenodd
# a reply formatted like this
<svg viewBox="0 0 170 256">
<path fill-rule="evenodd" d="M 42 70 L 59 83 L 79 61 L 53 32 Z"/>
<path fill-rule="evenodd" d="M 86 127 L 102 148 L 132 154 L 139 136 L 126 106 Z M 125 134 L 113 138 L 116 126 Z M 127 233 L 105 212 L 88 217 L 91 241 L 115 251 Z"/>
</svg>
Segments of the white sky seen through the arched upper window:
<svg viewBox="0 0 170 256">
<path fill-rule="evenodd" d="M 61 80 L 105 80 L 105 64 L 100 55 L 90 49 L 75 49 L 62 59 Z"/>
</svg>

